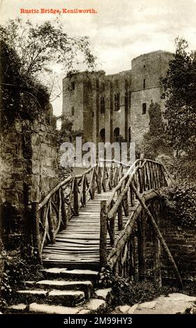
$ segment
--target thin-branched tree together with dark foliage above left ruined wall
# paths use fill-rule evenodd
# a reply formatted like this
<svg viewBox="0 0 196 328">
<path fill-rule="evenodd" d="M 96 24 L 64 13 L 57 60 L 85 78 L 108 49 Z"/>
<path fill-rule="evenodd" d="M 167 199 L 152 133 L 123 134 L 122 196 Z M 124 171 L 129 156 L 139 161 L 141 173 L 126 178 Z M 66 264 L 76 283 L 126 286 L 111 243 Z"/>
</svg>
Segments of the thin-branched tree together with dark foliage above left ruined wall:
<svg viewBox="0 0 196 328">
<path fill-rule="evenodd" d="M 61 94 L 56 94 L 56 65 L 71 75 L 80 57 L 88 68 L 95 64 L 89 38 L 68 36 L 58 21 L 10 20 L 0 26 L 0 43 L 1 130 L 18 117 L 35 119 Z"/>
</svg>

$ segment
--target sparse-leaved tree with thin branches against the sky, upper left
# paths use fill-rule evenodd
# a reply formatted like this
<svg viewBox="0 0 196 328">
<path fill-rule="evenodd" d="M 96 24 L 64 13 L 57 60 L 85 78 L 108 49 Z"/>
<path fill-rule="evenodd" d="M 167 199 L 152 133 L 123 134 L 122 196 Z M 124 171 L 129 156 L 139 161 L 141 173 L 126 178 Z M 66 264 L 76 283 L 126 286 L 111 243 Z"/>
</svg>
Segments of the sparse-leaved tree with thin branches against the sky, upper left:
<svg viewBox="0 0 196 328">
<path fill-rule="evenodd" d="M 64 73 L 74 73 L 81 61 L 88 68 L 95 64 L 89 38 L 68 36 L 58 20 L 36 25 L 29 20 L 9 20 L 6 27 L 0 26 L 0 38 L 20 59 L 20 82 L 29 86 L 29 77 L 45 81 L 52 98 L 57 96 L 52 65 L 60 64 Z"/>
</svg>

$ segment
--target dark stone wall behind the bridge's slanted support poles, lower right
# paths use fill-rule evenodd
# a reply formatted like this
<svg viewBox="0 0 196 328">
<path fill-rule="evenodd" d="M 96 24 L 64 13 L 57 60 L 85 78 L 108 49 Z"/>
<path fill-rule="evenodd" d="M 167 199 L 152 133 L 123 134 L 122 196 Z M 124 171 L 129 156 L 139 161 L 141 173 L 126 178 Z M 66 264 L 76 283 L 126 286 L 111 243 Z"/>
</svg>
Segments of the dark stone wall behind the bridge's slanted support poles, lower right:
<svg viewBox="0 0 196 328">
<path fill-rule="evenodd" d="M 146 228 L 146 274 L 153 276 L 153 232 L 149 224 Z M 165 217 L 164 213 L 160 215 L 159 228 L 176 262 L 181 278 L 196 279 L 196 230 L 176 225 L 174 221 Z M 164 283 L 175 281 L 172 265 L 163 247 L 161 247 L 161 271 Z"/>
</svg>

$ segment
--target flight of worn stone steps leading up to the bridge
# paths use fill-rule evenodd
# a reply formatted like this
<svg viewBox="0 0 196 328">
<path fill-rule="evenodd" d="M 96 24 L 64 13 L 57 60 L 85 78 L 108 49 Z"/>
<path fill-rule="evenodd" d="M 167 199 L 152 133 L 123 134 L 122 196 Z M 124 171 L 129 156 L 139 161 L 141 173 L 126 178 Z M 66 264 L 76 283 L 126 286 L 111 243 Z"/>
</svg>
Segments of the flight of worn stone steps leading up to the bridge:
<svg viewBox="0 0 196 328">
<path fill-rule="evenodd" d="M 104 308 L 110 299 L 110 288 L 96 289 L 98 271 L 57 267 L 41 271 L 43 280 L 27 281 L 8 313 L 87 314 Z"/>
</svg>

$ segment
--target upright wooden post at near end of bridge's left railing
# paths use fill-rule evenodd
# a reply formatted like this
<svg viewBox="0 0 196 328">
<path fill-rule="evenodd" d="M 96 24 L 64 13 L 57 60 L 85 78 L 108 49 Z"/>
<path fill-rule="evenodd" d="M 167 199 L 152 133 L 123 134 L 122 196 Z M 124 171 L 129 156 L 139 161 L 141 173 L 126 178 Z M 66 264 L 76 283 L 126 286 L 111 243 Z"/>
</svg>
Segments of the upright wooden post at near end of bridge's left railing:
<svg viewBox="0 0 196 328">
<path fill-rule="evenodd" d="M 40 240 L 40 225 L 39 225 L 39 216 L 38 216 L 38 202 L 31 202 L 31 218 L 32 218 L 31 226 L 32 226 L 32 234 L 33 234 L 34 253 L 36 253 L 38 261 L 42 263 L 42 257 L 40 253 L 41 240 Z"/>
</svg>

